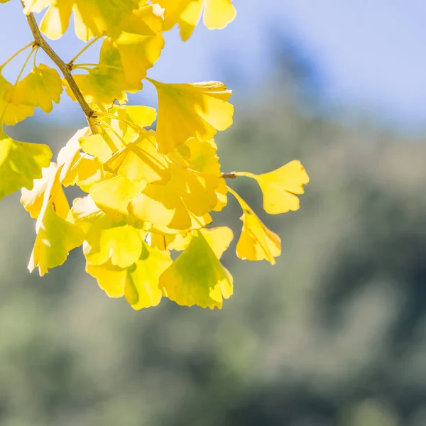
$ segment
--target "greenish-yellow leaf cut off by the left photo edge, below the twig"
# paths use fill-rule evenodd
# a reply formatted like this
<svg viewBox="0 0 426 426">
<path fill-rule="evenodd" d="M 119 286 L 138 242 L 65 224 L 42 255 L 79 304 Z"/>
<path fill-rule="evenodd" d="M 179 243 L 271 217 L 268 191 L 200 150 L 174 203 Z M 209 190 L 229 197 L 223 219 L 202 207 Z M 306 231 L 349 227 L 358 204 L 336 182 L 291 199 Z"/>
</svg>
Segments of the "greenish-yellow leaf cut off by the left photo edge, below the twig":
<svg viewBox="0 0 426 426">
<path fill-rule="evenodd" d="M 0 129 L 0 200 L 21 188 L 30 190 L 51 158 L 49 146 L 15 141 Z"/>
</svg>

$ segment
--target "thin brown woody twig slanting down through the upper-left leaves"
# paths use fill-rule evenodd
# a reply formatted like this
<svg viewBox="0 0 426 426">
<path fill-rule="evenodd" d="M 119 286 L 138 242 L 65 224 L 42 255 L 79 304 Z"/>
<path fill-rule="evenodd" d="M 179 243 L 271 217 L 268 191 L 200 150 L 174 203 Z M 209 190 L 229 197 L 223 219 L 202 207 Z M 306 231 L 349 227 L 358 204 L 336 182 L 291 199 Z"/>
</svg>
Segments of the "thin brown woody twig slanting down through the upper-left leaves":
<svg viewBox="0 0 426 426">
<path fill-rule="evenodd" d="M 48 42 L 43 38 L 43 35 L 41 35 L 40 33 L 40 28 L 38 28 L 38 25 L 37 25 L 37 22 L 35 21 L 33 13 L 28 14 L 27 21 L 31 28 L 31 32 L 33 33 L 34 44 L 40 47 L 41 49 L 43 49 L 45 53 L 48 55 L 48 57 L 51 60 L 53 60 L 53 62 L 55 62 L 55 65 L 60 69 L 60 71 L 62 72 L 62 75 L 64 76 L 65 80 L 68 83 L 68 86 L 70 87 L 72 93 L 74 94 L 75 99 L 77 99 L 77 102 L 80 104 L 80 107 L 87 118 L 89 126 L 92 129 L 92 133 L 96 133 L 94 132 L 93 124 L 90 120 L 90 118 L 94 114 L 94 111 L 92 108 L 89 107 L 89 104 L 87 104 L 86 99 L 84 99 L 84 96 L 82 92 L 80 91 L 80 88 L 77 86 L 77 83 L 74 80 L 74 77 L 72 77 L 71 67 L 67 65 L 58 56 L 55 50 L 53 50 L 53 48 L 51 48 Z"/>
</svg>

